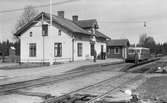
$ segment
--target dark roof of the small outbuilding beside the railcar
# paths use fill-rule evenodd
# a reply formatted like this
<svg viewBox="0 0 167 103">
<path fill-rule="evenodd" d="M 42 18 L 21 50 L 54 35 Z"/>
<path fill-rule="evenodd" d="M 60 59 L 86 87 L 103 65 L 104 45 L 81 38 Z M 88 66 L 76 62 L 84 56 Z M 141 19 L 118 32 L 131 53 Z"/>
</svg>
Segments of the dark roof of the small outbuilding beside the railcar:
<svg viewBox="0 0 167 103">
<path fill-rule="evenodd" d="M 107 46 L 129 46 L 128 39 L 115 39 L 107 41 Z"/>
</svg>

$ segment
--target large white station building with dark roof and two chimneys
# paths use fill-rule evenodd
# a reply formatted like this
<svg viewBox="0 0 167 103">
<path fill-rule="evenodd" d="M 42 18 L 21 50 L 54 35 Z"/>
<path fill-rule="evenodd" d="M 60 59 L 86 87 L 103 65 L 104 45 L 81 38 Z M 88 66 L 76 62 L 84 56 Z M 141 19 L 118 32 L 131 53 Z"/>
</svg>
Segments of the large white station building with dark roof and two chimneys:
<svg viewBox="0 0 167 103">
<path fill-rule="evenodd" d="M 93 59 L 106 53 L 108 36 L 98 31 L 96 19 L 79 20 L 41 12 L 21 27 L 15 35 L 20 39 L 20 62 L 62 62 Z M 52 24 L 52 25 L 51 25 Z"/>
</svg>

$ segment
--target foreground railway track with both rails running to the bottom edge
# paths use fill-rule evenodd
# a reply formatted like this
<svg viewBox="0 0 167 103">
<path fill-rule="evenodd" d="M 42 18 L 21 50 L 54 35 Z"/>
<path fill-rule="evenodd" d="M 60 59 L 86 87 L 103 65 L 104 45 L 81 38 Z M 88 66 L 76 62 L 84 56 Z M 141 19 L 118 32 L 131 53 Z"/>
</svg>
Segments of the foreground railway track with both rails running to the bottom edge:
<svg viewBox="0 0 167 103">
<path fill-rule="evenodd" d="M 77 90 L 74 90 L 74 91 L 71 91 L 65 95 L 62 95 L 62 96 L 59 96 L 59 97 L 54 97 L 54 98 L 49 98 L 47 100 L 45 100 L 44 102 L 42 103 L 59 103 L 59 101 L 63 101 L 65 100 L 66 98 L 69 98 L 69 97 L 72 97 L 72 96 L 75 96 L 75 94 L 80 94 L 80 92 L 82 93 L 82 91 L 84 90 L 91 90 L 92 88 L 101 88 L 101 87 L 105 87 L 103 86 L 104 84 L 107 84 L 107 83 L 110 83 L 111 81 L 112 82 L 118 82 L 118 81 L 122 81 L 121 79 L 125 79 L 124 82 L 120 82 L 118 84 L 115 84 L 113 86 L 110 87 L 110 89 L 104 93 L 101 93 L 97 96 L 95 96 L 94 98 L 88 100 L 88 101 L 85 101 L 86 103 L 94 103 L 104 97 L 112 97 L 110 96 L 109 94 L 111 94 L 111 92 L 115 91 L 116 89 L 119 89 L 119 90 L 122 90 L 122 88 L 124 88 L 125 84 L 128 84 L 130 82 L 134 82 L 137 80 L 137 78 L 142 78 L 143 75 L 142 74 L 137 74 L 136 76 L 131 76 L 129 75 L 129 73 L 122 73 L 122 74 L 119 74 L 117 76 L 114 76 L 114 77 L 111 77 L 109 79 L 106 79 L 104 81 L 101 81 L 101 82 L 98 82 L 98 83 L 95 83 L 95 84 L 92 84 L 92 85 L 89 85 L 89 86 L 86 86 L 86 87 L 83 87 L 83 88 L 80 88 L 80 89 L 77 89 Z M 131 78 L 131 79 L 129 79 Z M 88 92 L 89 94 L 89 92 Z M 87 95 L 87 96 L 91 96 L 90 95 Z M 85 98 L 85 97 L 84 97 Z M 71 103 L 71 102 L 70 102 Z M 75 103 L 75 102 L 74 102 Z"/>
</svg>

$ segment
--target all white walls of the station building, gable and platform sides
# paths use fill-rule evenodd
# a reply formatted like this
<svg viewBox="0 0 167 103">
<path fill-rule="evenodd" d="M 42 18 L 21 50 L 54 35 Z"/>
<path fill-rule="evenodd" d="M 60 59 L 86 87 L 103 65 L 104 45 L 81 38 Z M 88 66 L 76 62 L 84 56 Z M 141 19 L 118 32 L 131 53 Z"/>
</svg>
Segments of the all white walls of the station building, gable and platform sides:
<svg viewBox="0 0 167 103">
<path fill-rule="evenodd" d="M 45 22 L 45 24 L 47 24 Z M 48 36 L 43 38 L 41 24 L 38 23 L 27 30 L 21 36 L 21 62 L 53 62 L 53 61 L 72 61 L 72 38 L 69 34 L 61 32 L 61 36 L 58 35 L 58 29 L 54 26 L 48 27 Z M 30 37 L 32 32 L 32 37 Z M 62 43 L 62 57 L 54 57 L 54 43 Z M 29 43 L 36 43 L 36 57 L 29 57 Z M 83 55 L 78 57 L 77 43 L 82 43 Z M 44 45 L 43 45 L 44 44 Z M 106 51 L 106 43 L 96 42 L 95 49 L 97 55 L 101 52 L 101 45 L 103 45 L 104 52 Z M 43 48 L 44 47 L 44 48 Z M 43 56 L 44 54 L 44 56 Z M 90 42 L 89 41 L 74 41 L 74 60 L 86 60 L 92 59 L 90 54 Z"/>
</svg>

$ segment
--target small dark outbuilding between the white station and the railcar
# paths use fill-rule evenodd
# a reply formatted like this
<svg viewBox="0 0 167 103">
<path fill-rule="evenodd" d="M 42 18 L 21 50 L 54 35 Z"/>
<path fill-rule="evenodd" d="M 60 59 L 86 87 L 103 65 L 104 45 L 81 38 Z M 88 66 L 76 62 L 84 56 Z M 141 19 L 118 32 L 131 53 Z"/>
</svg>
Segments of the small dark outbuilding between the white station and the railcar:
<svg viewBox="0 0 167 103">
<path fill-rule="evenodd" d="M 113 39 L 107 41 L 107 57 L 126 59 L 128 47 L 130 46 L 128 39 Z"/>
</svg>

